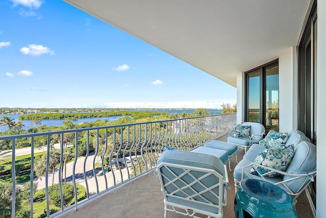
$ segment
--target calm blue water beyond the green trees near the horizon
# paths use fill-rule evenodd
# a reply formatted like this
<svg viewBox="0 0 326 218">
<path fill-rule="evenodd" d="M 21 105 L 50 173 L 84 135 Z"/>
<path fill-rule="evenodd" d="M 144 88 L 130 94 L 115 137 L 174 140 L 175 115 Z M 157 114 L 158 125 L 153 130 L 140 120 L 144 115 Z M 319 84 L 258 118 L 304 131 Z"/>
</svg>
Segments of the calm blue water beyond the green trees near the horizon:
<svg viewBox="0 0 326 218">
<path fill-rule="evenodd" d="M 195 110 L 155 110 L 157 112 L 168 112 L 169 114 L 182 114 L 183 112 L 186 112 L 188 114 L 192 114 L 194 113 Z M 207 109 L 207 111 L 210 112 L 210 115 L 213 114 L 222 114 L 222 110 L 214 110 L 214 109 Z M 11 119 L 14 119 L 15 122 L 18 121 L 18 117 L 22 115 L 22 114 L 8 114 L 8 115 L 0 115 L 0 119 L 2 119 L 3 117 L 11 117 Z M 119 119 L 122 116 L 113 116 L 113 117 L 94 117 L 94 118 L 82 118 L 82 119 L 77 119 L 76 123 L 83 123 L 83 122 L 94 122 L 96 120 L 103 120 L 103 119 L 107 119 L 108 121 L 114 121 Z M 46 125 L 46 126 L 62 126 L 62 121 L 64 121 L 64 119 L 61 120 L 41 120 L 42 125 Z M 31 127 L 31 121 L 30 120 L 22 120 L 21 121 L 25 126 L 24 129 L 28 129 Z M 0 126 L 0 131 L 4 131 L 7 130 L 7 126 Z"/>
</svg>

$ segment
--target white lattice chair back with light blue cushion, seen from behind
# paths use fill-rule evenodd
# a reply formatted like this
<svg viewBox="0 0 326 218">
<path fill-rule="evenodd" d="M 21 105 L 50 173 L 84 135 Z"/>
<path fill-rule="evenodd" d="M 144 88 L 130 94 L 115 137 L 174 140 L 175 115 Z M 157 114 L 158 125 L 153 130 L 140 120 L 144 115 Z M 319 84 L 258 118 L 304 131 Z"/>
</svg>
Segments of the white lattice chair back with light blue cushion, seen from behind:
<svg viewBox="0 0 326 218">
<path fill-rule="evenodd" d="M 182 209 L 223 214 L 226 187 L 223 162 L 212 155 L 186 151 L 165 151 L 157 171 L 165 203 Z"/>
</svg>

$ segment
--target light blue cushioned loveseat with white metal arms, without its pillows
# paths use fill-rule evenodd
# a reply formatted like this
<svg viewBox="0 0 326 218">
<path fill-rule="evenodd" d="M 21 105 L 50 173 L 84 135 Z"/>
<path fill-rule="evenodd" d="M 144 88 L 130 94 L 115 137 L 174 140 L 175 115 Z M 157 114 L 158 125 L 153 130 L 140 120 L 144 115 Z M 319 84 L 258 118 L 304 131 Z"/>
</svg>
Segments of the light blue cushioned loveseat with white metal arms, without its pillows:
<svg viewBox="0 0 326 218">
<path fill-rule="evenodd" d="M 260 179 L 283 188 L 294 201 L 307 185 L 314 180 L 316 175 L 316 146 L 310 143 L 310 140 L 299 130 L 292 130 L 289 133 L 285 145 L 294 145 L 294 155 L 289 166 L 283 172 L 254 163 L 258 154 L 266 148 L 259 144 L 253 144 L 234 169 L 235 190 L 237 190 L 240 181 L 243 179 Z M 270 178 L 257 174 L 253 175 L 251 173 L 253 167 L 261 167 L 277 172 L 280 175 Z"/>
</svg>

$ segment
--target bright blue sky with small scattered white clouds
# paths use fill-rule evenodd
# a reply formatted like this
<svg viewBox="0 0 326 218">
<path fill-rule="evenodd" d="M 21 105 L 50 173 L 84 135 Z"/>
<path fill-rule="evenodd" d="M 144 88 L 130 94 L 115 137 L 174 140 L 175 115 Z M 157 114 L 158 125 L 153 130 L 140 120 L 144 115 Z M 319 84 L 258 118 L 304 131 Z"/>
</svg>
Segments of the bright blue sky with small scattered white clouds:
<svg viewBox="0 0 326 218">
<path fill-rule="evenodd" d="M 0 14 L 0 107 L 236 102 L 236 88 L 65 2 L 3 0 Z"/>
</svg>

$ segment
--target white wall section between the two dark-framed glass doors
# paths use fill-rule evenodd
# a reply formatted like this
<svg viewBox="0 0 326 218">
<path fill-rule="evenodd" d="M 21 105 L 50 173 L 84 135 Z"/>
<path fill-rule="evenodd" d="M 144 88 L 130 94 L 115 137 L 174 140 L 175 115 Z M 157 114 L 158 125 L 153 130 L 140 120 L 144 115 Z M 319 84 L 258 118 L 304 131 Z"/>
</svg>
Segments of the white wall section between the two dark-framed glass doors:
<svg viewBox="0 0 326 218">
<path fill-rule="evenodd" d="M 289 47 L 279 56 L 280 131 L 296 128 L 296 48 Z"/>
</svg>

